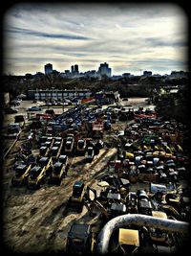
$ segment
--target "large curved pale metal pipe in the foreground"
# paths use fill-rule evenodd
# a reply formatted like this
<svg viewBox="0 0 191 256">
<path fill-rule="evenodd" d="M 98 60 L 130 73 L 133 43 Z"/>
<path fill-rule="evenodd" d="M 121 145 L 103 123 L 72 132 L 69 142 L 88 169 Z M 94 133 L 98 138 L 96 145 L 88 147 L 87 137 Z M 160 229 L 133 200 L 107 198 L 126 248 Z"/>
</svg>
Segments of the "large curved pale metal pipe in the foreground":
<svg viewBox="0 0 191 256">
<path fill-rule="evenodd" d="M 173 221 L 140 214 L 126 214 L 108 221 L 98 234 L 96 242 L 97 254 L 108 253 L 108 246 L 113 232 L 124 225 L 150 226 L 170 232 L 188 232 L 189 223 Z"/>
</svg>

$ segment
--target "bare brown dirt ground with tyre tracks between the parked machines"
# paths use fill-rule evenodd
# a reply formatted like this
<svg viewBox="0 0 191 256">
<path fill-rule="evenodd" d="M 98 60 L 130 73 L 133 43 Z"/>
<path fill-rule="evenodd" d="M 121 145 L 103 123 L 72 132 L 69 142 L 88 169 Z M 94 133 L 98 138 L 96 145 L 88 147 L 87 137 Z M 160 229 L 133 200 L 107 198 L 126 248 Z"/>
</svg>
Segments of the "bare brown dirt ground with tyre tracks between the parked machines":
<svg viewBox="0 0 191 256">
<path fill-rule="evenodd" d="M 122 104 L 144 105 L 145 99 L 132 98 Z M 36 105 L 23 102 L 17 106 L 19 114 L 26 114 L 28 105 Z M 150 107 L 147 105 L 147 107 Z M 13 115 L 7 115 L 6 124 L 13 122 Z M 114 130 L 121 130 L 126 123 L 113 124 Z M 24 131 L 23 131 L 24 132 Z M 106 135 L 110 136 L 110 135 Z M 83 156 L 70 157 L 70 169 L 60 186 L 45 184 L 39 190 L 31 191 L 26 187 L 14 188 L 11 186 L 16 147 L 23 143 L 27 135 L 23 133 L 20 140 L 12 149 L 4 162 L 3 170 L 3 241 L 12 252 L 38 253 L 60 252 L 65 250 L 66 238 L 71 224 L 74 221 L 91 223 L 98 231 L 97 217 L 90 217 L 84 206 L 80 214 L 66 212 L 66 203 L 72 195 L 75 180 L 83 180 L 100 191 L 97 182 L 101 175 L 108 172 L 107 162 L 114 158 L 117 149 L 102 149 L 92 163 L 85 163 Z M 147 186 L 142 184 L 141 186 Z M 133 189 L 137 189 L 136 185 Z"/>
</svg>

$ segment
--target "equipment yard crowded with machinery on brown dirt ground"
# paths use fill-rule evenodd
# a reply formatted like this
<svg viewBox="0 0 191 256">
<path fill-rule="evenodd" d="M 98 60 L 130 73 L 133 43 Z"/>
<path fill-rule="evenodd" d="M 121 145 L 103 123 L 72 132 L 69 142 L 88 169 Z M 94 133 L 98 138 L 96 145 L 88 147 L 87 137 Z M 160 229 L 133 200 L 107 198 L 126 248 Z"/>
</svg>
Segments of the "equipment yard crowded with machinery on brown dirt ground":
<svg viewBox="0 0 191 256">
<path fill-rule="evenodd" d="M 3 239 L 12 252 L 174 253 L 188 243 L 186 128 L 145 98 L 126 100 L 22 101 L 5 116 Z"/>
</svg>

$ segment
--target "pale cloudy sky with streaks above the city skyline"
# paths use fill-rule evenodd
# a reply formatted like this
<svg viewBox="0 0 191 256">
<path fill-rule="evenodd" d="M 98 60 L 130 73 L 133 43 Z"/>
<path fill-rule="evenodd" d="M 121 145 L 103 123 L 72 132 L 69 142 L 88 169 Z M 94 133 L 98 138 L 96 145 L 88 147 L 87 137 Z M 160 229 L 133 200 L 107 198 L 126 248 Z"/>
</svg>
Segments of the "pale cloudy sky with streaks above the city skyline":
<svg viewBox="0 0 191 256">
<path fill-rule="evenodd" d="M 4 72 L 187 71 L 187 22 L 176 4 L 16 4 L 4 14 Z"/>
</svg>

